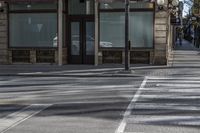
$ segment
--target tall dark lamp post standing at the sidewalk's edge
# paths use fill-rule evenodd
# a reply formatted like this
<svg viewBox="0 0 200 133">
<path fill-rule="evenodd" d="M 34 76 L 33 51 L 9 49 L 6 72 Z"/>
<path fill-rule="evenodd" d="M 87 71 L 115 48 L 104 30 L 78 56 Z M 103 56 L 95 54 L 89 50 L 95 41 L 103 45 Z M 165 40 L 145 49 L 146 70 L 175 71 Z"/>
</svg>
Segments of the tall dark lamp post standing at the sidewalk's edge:
<svg viewBox="0 0 200 133">
<path fill-rule="evenodd" d="M 130 0 L 125 0 L 125 71 L 129 71 L 129 5 Z"/>
</svg>

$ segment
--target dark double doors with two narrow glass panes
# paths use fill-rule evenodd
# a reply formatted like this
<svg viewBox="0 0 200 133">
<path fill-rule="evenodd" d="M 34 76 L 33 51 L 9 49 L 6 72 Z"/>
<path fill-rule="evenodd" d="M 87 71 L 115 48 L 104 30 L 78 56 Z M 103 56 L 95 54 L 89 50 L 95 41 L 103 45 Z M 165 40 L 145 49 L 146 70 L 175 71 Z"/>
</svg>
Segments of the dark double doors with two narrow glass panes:
<svg viewBox="0 0 200 133">
<path fill-rule="evenodd" d="M 70 21 L 69 63 L 94 64 L 94 21 Z"/>
</svg>

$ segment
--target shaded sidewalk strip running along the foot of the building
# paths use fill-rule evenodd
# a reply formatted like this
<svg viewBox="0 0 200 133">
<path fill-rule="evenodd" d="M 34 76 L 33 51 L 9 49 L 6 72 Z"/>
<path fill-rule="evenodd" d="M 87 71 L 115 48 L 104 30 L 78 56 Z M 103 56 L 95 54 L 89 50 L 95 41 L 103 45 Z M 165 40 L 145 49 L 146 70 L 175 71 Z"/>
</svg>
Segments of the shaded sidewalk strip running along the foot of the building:
<svg viewBox="0 0 200 133">
<path fill-rule="evenodd" d="M 148 64 L 134 64 L 130 72 L 124 72 L 123 64 L 103 65 L 48 65 L 48 64 L 15 64 L 0 65 L 0 76 L 69 76 L 69 77 L 135 77 L 145 76 L 137 70 L 167 68 L 167 66 L 152 66 Z"/>
</svg>

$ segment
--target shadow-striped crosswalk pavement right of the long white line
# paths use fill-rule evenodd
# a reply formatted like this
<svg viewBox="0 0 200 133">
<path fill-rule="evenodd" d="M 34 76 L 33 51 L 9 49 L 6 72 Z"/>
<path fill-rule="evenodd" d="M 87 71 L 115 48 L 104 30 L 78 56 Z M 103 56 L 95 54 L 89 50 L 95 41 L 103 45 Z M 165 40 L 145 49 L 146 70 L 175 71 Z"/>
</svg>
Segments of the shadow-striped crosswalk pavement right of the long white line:
<svg viewBox="0 0 200 133">
<path fill-rule="evenodd" d="M 148 77 L 132 104 L 124 133 L 200 132 L 198 77 Z"/>
</svg>

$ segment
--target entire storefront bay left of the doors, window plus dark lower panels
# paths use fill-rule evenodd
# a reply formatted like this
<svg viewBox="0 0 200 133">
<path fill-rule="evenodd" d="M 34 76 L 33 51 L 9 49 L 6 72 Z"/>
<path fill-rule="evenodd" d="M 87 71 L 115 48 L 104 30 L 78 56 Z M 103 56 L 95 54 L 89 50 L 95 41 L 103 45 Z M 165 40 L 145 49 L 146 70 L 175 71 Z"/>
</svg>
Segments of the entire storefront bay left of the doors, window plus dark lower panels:
<svg viewBox="0 0 200 133">
<path fill-rule="evenodd" d="M 10 1 L 8 22 L 10 62 L 55 62 L 56 1 Z"/>
</svg>

